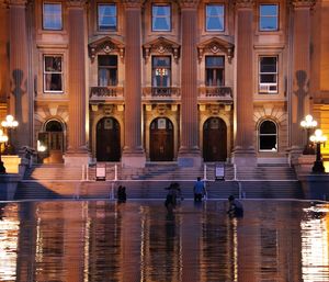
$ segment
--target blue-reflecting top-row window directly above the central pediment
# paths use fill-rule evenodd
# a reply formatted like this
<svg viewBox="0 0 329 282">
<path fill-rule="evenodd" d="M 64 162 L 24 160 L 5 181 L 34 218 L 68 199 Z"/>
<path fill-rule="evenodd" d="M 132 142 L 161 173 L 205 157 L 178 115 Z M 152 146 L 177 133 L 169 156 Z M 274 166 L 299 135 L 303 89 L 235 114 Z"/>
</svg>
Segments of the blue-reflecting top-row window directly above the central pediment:
<svg viewBox="0 0 329 282">
<path fill-rule="evenodd" d="M 168 32 L 171 30 L 170 5 L 152 5 L 152 31 Z"/>
</svg>

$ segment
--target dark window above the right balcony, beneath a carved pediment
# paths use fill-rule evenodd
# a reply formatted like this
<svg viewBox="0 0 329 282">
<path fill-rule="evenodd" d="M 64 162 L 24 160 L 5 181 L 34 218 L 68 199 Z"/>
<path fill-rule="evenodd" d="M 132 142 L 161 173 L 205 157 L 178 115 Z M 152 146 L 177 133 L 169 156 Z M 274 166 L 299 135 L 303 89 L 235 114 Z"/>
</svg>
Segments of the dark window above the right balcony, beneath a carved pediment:
<svg viewBox="0 0 329 282">
<path fill-rule="evenodd" d="M 224 56 L 205 57 L 205 84 L 208 87 L 224 86 Z"/>
</svg>

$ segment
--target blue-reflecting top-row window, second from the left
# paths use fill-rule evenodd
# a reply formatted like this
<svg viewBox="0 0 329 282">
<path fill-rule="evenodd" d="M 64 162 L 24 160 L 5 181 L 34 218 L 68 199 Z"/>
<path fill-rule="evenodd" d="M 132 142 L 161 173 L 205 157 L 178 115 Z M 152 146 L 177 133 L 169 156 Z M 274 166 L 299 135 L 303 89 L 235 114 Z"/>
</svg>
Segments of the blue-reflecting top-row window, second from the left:
<svg viewBox="0 0 329 282">
<path fill-rule="evenodd" d="M 99 31 L 116 31 L 116 5 L 98 5 Z"/>
</svg>

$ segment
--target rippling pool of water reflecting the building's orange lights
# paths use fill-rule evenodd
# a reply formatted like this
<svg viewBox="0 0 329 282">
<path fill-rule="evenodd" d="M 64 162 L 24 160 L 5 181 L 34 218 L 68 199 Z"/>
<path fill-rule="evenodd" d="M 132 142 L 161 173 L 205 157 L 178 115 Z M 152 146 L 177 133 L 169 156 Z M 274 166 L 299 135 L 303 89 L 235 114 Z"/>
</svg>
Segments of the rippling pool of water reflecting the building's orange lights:
<svg viewBox="0 0 329 282">
<path fill-rule="evenodd" d="M 243 201 L 0 206 L 0 281 L 329 281 L 329 205 Z"/>
</svg>

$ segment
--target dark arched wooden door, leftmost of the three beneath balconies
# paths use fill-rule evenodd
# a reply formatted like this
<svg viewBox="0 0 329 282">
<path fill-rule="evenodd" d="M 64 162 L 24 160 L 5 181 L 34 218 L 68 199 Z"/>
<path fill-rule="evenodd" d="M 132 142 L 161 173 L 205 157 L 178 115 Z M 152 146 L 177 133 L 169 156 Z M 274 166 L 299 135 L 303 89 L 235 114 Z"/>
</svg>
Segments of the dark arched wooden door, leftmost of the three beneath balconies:
<svg viewBox="0 0 329 282">
<path fill-rule="evenodd" d="M 113 117 L 103 117 L 97 125 L 98 161 L 120 161 L 120 124 Z"/>
</svg>

